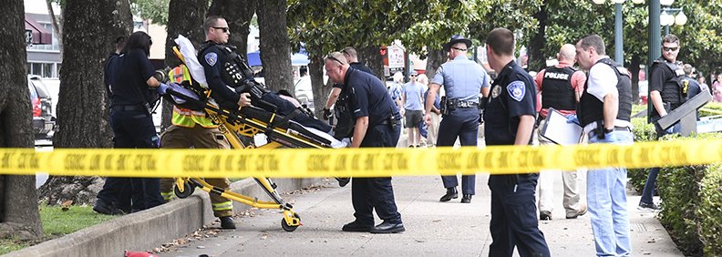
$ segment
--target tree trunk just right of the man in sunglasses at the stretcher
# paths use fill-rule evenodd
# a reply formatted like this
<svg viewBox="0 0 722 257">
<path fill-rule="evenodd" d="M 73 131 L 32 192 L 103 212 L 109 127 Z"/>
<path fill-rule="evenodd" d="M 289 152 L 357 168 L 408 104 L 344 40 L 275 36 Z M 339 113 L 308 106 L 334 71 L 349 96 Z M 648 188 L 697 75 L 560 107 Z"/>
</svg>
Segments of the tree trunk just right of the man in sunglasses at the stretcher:
<svg viewBox="0 0 722 257">
<path fill-rule="evenodd" d="M 266 86 L 273 91 L 286 89 L 294 94 L 294 73 L 291 67 L 291 43 L 286 27 L 286 8 L 285 0 L 261 1 L 258 4 L 261 61 Z"/>
</svg>

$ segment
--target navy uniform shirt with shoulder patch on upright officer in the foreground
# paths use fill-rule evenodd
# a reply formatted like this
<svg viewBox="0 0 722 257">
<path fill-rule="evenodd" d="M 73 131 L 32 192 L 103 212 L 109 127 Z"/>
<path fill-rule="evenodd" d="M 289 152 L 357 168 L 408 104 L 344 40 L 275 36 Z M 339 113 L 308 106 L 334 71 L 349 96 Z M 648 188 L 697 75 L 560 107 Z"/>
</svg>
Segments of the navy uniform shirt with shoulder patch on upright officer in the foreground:
<svg viewBox="0 0 722 257">
<path fill-rule="evenodd" d="M 489 103 L 484 111 L 486 145 L 514 144 L 519 117 L 536 114 L 535 88 L 529 73 L 515 61 L 501 70 L 491 85 Z"/>
</svg>

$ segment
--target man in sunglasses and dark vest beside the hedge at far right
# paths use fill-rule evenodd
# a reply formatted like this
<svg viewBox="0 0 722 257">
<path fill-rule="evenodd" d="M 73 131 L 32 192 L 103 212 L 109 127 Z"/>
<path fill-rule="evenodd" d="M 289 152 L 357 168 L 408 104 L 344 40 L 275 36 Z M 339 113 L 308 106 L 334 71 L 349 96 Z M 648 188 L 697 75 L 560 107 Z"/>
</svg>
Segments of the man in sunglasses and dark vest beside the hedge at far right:
<svg viewBox="0 0 722 257">
<path fill-rule="evenodd" d="M 679 132 L 679 123 L 667 129 L 659 128 L 656 123 L 659 118 L 665 117 L 667 112 L 686 102 L 687 88 L 681 83 L 685 71 L 682 69 L 682 63 L 676 61 L 679 49 L 679 38 L 671 34 L 665 36 L 662 39 L 662 57 L 655 60 L 649 72 L 649 98 L 652 101 L 649 106 L 651 108 L 649 122 L 655 123 L 657 138 Z M 649 170 L 645 189 L 642 190 L 642 199 L 639 200 L 641 210 L 659 209 L 652 200 L 658 173 L 659 168 Z"/>
</svg>

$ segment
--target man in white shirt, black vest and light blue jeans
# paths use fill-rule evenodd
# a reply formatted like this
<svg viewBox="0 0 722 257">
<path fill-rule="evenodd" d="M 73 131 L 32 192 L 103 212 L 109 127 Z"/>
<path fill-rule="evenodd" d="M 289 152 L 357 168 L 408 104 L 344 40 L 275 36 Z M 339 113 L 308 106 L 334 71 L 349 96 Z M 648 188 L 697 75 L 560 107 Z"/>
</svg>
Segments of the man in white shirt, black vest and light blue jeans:
<svg viewBox="0 0 722 257">
<path fill-rule="evenodd" d="M 589 142 L 632 144 L 632 82 L 629 72 L 604 54 L 597 35 L 576 44 L 579 66 L 589 70 L 577 116 Z M 576 119 L 576 118 L 575 118 Z M 629 256 L 629 216 L 624 168 L 587 171 L 587 202 L 597 256 Z"/>
</svg>

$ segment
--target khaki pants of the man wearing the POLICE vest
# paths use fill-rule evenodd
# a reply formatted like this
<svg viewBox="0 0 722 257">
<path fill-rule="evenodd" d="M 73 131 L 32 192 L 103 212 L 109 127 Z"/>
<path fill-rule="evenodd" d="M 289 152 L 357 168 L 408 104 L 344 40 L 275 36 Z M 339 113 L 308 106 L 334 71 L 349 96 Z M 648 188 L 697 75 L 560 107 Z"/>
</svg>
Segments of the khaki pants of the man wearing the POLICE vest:
<svg viewBox="0 0 722 257">
<path fill-rule="evenodd" d="M 544 120 L 539 124 L 539 128 L 544 126 Z M 540 145 L 551 145 L 553 142 L 542 137 L 541 129 L 537 129 L 537 133 L 534 133 L 539 140 Z M 539 172 L 539 211 L 554 210 L 554 176 L 559 176 L 562 173 L 562 181 L 564 186 L 564 198 L 562 205 L 566 211 L 567 216 L 574 216 L 580 211 L 580 196 L 579 190 L 577 189 L 577 183 L 579 181 L 578 175 L 579 170 L 574 171 L 562 171 L 562 170 L 541 170 Z"/>
</svg>

